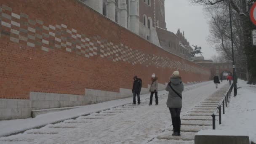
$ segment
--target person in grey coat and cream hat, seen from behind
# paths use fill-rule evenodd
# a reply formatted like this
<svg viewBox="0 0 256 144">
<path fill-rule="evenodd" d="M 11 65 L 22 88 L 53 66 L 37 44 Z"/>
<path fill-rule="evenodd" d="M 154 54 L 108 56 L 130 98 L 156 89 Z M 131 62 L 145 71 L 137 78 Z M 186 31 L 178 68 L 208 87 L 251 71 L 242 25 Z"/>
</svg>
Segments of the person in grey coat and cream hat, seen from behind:
<svg viewBox="0 0 256 144">
<path fill-rule="evenodd" d="M 184 85 L 179 76 L 179 71 L 174 71 L 171 75 L 170 82 L 165 88 L 169 92 L 167 99 L 167 107 L 171 113 L 171 121 L 173 124 L 172 136 L 181 136 L 181 108 L 182 108 L 182 91 Z"/>
</svg>

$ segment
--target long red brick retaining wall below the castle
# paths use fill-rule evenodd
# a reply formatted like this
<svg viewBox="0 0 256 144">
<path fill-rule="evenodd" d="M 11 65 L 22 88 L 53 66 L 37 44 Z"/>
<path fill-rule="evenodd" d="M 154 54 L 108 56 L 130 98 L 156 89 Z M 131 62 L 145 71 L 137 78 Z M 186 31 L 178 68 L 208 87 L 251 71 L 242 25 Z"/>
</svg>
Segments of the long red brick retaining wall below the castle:
<svg viewBox="0 0 256 144">
<path fill-rule="evenodd" d="M 85 88 L 119 92 L 119 88 L 131 89 L 134 75 L 141 77 L 143 87 L 147 87 L 152 73 L 159 77 L 159 83 L 164 84 L 176 69 L 180 70 L 185 83 L 208 80 L 211 75 L 209 69 L 163 51 L 77 0 L 1 0 L 0 7 L 0 13 L 10 16 L 12 13 L 19 15 L 25 13 L 29 16 L 29 20 L 43 21 L 43 25 L 47 27 L 56 26 L 55 30 L 50 28 L 47 31 L 38 23 L 26 23 L 27 19 L 24 15 L 20 19 L 12 17 L 11 20 L 1 17 L 2 22 L 11 24 L 11 21 L 16 21 L 20 23 L 20 28 L 31 27 L 36 30 L 35 32 L 28 30 L 24 33 L 15 24 L 11 24 L 10 27 L 8 25 L 5 27 L 3 24 L 0 26 L 0 98 L 29 99 L 30 91 L 84 95 Z M 90 38 L 90 41 L 98 47 L 97 50 L 93 50 L 97 55 L 85 57 L 89 47 L 75 48 L 77 44 L 74 43 L 77 43 L 77 39 L 65 32 L 61 33 L 61 36 L 70 39 L 72 45 L 60 48 L 56 47 L 56 44 L 60 45 L 60 43 L 51 35 L 42 38 L 47 40 L 48 44 L 40 43 L 42 41 L 40 37 L 27 39 L 27 42 L 35 44 L 34 47 L 28 46 L 27 42 L 21 40 L 22 37 L 19 39 L 20 36 L 29 37 L 29 35 L 43 35 L 49 32 L 54 32 L 56 37 L 60 38 L 57 31 L 62 32 L 64 28 L 58 29 L 56 24 L 65 24 L 67 29 L 74 29 L 74 32 L 77 30 L 77 34 L 82 35 L 80 37 Z M 11 29 L 19 31 L 19 35 L 14 34 Z M 19 42 L 14 42 L 13 38 L 19 39 Z M 100 50 L 106 51 L 104 52 L 106 54 L 107 45 L 105 49 L 100 49 L 100 45 L 96 44 L 97 40 L 102 40 L 101 43 L 112 42 L 119 47 L 122 47 L 120 43 L 126 45 L 127 48 L 122 48 L 126 54 L 120 51 L 117 53 L 126 56 L 127 60 L 122 61 L 122 58 L 114 62 L 113 54 L 102 58 L 103 53 Z M 48 51 L 43 51 L 42 47 L 48 48 Z M 69 52 L 66 48 L 72 51 Z M 131 55 L 127 54 L 129 51 L 132 52 Z M 133 65 L 135 59 L 141 58 L 136 53 L 144 54 L 145 57 L 141 64 L 138 60 Z M 154 56 L 157 58 L 150 60 Z M 166 61 L 160 58 L 167 59 L 171 66 L 167 67 Z"/>
</svg>

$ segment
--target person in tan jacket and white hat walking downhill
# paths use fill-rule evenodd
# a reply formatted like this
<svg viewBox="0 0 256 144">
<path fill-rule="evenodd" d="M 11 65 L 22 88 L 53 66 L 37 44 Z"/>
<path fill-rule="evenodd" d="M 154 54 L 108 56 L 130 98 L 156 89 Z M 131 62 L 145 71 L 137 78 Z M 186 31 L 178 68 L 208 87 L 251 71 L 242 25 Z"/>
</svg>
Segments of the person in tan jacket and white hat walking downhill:
<svg viewBox="0 0 256 144">
<path fill-rule="evenodd" d="M 152 84 L 150 86 L 150 101 L 149 101 L 149 105 L 152 105 L 152 99 L 153 99 L 153 95 L 155 93 L 155 105 L 158 105 L 158 96 L 157 96 L 157 92 L 158 92 L 158 81 L 157 81 L 157 77 L 155 77 L 155 74 L 152 75 L 151 77 L 152 80 Z"/>
</svg>

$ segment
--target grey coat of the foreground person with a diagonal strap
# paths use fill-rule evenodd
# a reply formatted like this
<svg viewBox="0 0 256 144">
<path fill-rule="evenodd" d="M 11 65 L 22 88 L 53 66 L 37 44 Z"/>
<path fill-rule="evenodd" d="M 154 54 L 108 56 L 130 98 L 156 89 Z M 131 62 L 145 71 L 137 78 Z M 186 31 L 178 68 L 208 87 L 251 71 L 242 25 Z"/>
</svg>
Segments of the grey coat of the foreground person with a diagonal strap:
<svg viewBox="0 0 256 144">
<path fill-rule="evenodd" d="M 179 95 L 182 97 L 182 91 L 184 90 L 184 85 L 181 81 L 181 77 L 180 76 L 172 76 L 170 78 L 169 84 L 171 84 L 171 87 L 177 93 L 179 93 Z M 167 102 L 166 102 L 167 107 L 181 108 L 182 107 L 182 99 L 171 89 L 169 84 L 165 88 L 165 90 L 169 92 L 168 99 L 167 99 Z"/>
</svg>

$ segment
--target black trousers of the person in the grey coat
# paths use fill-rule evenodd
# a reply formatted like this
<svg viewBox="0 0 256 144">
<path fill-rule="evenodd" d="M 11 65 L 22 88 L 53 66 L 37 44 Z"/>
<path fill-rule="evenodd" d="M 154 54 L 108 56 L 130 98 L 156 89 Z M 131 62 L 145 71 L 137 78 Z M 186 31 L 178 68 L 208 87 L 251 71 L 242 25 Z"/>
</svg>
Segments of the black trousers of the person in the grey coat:
<svg viewBox="0 0 256 144">
<path fill-rule="evenodd" d="M 173 132 L 181 133 L 181 108 L 170 108 L 171 121 L 173 123 Z"/>
</svg>

